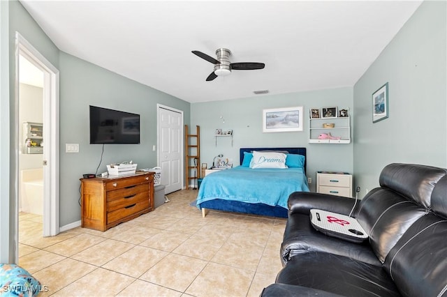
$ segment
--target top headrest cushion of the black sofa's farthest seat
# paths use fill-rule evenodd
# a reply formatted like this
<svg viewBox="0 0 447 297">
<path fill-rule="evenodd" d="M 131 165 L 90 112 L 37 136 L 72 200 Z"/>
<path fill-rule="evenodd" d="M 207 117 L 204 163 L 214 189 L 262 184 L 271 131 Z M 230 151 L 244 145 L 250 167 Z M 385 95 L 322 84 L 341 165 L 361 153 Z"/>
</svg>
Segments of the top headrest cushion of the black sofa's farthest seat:
<svg viewBox="0 0 447 297">
<path fill-rule="evenodd" d="M 430 208 L 434 185 L 447 174 L 447 169 L 415 164 L 393 163 L 383 168 L 379 183 Z"/>
</svg>

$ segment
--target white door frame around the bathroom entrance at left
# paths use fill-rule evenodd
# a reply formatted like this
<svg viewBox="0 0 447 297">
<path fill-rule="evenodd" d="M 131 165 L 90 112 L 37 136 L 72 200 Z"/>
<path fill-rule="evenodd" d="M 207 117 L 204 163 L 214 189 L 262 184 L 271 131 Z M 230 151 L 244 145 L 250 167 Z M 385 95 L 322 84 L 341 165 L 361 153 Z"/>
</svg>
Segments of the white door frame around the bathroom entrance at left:
<svg viewBox="0 0 447 297">
<path fill-rule="evenodd" d="M 25 61 L 26 60 L 26 61 Z M 59 70 L 55 68 L 45 57 L 40 54 L 20 33 L 15 33 L 15 188 L 16 193 L 20 188 L 20 150 L 27 146 L 23 139 L 23 123 L 20 122 L 20 63 L 30 63 L 43 76 L 42 88 L 42 139 L 45 145 L 41 159 L 43 168 L 43 230 L 42 236 L 54 236 L 59 233 Z M 22 90 L 23 91 L 23 90 Z M 22 132 L 21 132 L 22 131 Z M 25 144 L 23 143 L 25 142 Z M 34 148 L 37 146 L 37 142 Z M 41 146 L 43 148 L 43 146 Z M 19 195 L 15 197 L 16 227 L 18 230 Z M 15 242 L 18 242 L 18 231 L 15 233 Z M 16 249 L 18 258 L 18 249 Z"/>
</svg>

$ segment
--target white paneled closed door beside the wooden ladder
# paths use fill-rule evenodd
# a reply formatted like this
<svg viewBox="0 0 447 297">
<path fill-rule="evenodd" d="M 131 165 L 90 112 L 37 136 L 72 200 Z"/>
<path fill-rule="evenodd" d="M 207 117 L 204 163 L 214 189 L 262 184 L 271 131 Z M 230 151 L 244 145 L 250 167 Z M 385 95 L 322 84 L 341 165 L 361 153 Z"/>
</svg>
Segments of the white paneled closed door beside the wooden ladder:
<svg viewBox="0 0 447 297">
<path fill-rule="evenodd" d="M 158 105 L 159 167 L 165 193 L 182 189 L 183 112 Z"/>
</svg>

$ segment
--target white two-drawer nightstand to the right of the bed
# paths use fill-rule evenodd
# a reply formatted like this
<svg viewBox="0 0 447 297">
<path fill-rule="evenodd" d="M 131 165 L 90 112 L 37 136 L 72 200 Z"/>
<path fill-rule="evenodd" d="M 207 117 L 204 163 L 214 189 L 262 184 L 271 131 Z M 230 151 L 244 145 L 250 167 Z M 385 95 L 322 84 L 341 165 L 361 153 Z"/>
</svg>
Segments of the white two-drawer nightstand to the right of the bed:
<svg viewBox="0 0 447 297">
<path fill-rule="evenodd" d="M 344 172 L 317 172 L 316 192 L 352 197 L 352 175 Z"/>
</svg>

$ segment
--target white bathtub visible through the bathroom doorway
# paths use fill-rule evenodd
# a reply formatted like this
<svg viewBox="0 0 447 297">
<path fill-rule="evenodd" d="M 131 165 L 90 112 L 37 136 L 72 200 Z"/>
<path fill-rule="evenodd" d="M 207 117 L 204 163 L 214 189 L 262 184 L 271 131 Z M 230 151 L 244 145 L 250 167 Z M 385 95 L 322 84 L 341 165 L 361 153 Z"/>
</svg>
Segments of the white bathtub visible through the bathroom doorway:
<svg viewBox="0 0 447 297">
<path fill-rule="evenodd" d="M 20 211 L 43 215 L 43 168 L 22 170 L 19 201 Z"/>
</svg>

